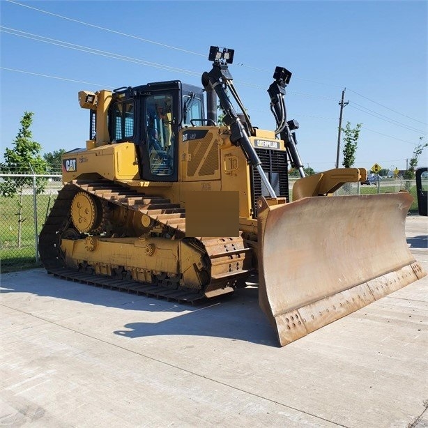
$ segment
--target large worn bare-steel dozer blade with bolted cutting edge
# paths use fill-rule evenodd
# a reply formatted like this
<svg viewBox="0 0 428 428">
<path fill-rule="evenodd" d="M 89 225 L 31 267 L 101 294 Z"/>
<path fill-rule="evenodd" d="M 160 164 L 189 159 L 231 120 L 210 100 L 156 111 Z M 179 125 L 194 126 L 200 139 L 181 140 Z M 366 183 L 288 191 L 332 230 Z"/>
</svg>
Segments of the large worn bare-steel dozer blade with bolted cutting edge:
<svg viewBox="0 0 428 428">
<path fill-rule="evenodd" d="M 259 305 L 281 346 L 426 273 L 408 250 L 407 192 L 259 199 Z"/>
</svg>

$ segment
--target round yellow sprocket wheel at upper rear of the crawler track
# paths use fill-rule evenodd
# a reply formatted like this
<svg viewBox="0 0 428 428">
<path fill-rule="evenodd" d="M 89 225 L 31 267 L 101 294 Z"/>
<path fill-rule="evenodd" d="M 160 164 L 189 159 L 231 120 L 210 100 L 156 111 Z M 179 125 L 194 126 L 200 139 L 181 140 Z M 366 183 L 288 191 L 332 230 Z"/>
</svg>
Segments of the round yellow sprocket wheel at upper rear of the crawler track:
<svg viewBox="0 0 428 428">
<path fill-rule="evenodd" d="M 102 222 L 101 202 L 89 193 L 77 193 L 71 203 L 71 219 L 82 234 L 97 229 Z"/>
</svg>

